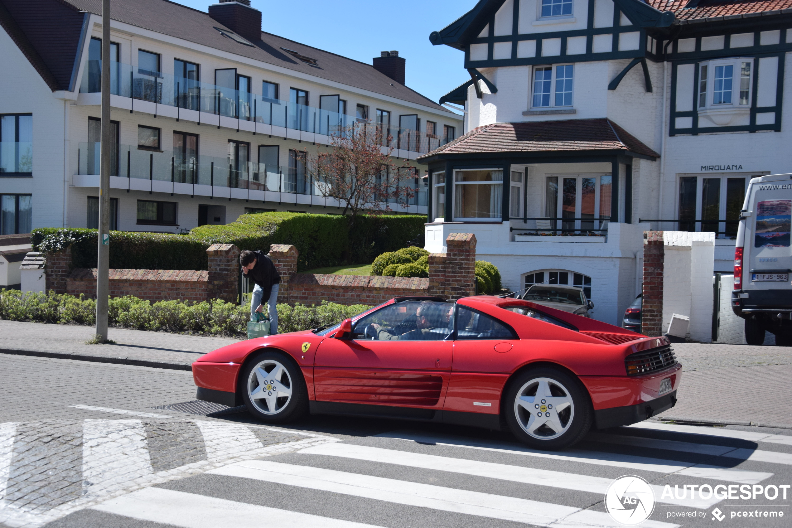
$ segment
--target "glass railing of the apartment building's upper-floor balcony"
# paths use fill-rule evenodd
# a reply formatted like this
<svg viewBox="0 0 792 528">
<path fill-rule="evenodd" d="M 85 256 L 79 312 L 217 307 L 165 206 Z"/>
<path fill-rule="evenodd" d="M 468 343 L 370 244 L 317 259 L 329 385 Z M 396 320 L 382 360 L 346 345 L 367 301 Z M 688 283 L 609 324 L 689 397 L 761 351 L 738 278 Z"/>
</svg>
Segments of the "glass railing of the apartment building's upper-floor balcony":
<svg viewBox="0 0 792 528">
<path fill-rule="evenodd" d="M 80 93 L 101 91 L 101 61 L 88 61 Z M 344 135 L 356 118 L 339 112 L 261 97 L 206 82 L 139 70 L 123 63 L 110 67 L 110 91 L 114 95 L 177 108 L 208 112 L 234 119 L 255 121 L 291 130 L 322 135 Z M 383 146 L 427 153 L 447 141 L 409 128 L 371 124 L 371 131 L 382 131 Z"/>
</svg>

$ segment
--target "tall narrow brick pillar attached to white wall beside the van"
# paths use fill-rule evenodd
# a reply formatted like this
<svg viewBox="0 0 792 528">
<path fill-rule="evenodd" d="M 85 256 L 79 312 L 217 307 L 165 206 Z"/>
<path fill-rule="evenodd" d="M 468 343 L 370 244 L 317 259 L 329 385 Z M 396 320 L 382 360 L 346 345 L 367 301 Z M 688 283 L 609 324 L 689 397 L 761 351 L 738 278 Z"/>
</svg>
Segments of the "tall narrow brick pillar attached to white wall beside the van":
<svg viewBox="0 0 792 528">
<path fill-rule="evenodd" d="M 643 307 L 641 333 L 663 335 L 663 270 L 665 248 L 662 231 L 644 231 Z"/>
</svg>

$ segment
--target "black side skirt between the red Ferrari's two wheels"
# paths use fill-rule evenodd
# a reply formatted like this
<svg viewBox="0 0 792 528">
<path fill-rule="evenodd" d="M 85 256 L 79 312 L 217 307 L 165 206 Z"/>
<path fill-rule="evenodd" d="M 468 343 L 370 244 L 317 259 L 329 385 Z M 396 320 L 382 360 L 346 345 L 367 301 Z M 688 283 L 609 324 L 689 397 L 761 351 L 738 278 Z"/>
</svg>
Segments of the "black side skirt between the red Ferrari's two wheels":
<svg viewBox="0 0 792 528">
<path fill-rule="evenodd" d="M 395 407 L 393 405 L 366 405 L 337 401 L 310 401 L 311 414 L 335 416 L 360 416 L 389 420 L 417 420 L 440 424 L 466 425 L 484 429 L 501 430 L 501 417 L 481 412 L 442 411 L 431 408 Z"/>
</svg>

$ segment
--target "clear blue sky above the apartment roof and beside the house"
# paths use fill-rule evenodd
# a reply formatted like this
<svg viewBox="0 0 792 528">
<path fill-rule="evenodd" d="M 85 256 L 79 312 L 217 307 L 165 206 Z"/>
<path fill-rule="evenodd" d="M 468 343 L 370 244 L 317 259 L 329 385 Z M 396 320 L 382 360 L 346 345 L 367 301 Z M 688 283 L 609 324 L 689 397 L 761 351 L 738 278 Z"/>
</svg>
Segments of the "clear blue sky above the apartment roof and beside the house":
<svg viewBox="0 0 792 528">
<path fill-rule="evenodd" d="M 175 0 L 208 11 L 208 0 Z M 407 61 L 406 84 L 437 101 L 470 79 L 463 52 L 432 46 L 439 31 L 475 6 L 476 0 L 253 0 L 265 32 L 371 64 L 380 51 L 398 50 Z"/>
</svg>

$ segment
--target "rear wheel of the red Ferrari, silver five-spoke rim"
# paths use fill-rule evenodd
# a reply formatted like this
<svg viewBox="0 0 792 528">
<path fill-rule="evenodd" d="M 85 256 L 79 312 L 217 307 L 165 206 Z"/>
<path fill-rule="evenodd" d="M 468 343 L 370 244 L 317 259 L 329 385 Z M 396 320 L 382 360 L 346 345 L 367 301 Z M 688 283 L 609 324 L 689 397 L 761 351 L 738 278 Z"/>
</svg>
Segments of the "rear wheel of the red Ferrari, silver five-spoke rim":
<svg viewBox="0 0 792 528">
<path fill-rule="evenodd" d="M 512 433 L 535 449 L 572 446 L 592 426 L 591 401 L 580 380 L 550 367 L 518 374 L 503 406 Z"/>
</svg>

